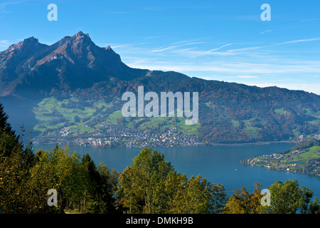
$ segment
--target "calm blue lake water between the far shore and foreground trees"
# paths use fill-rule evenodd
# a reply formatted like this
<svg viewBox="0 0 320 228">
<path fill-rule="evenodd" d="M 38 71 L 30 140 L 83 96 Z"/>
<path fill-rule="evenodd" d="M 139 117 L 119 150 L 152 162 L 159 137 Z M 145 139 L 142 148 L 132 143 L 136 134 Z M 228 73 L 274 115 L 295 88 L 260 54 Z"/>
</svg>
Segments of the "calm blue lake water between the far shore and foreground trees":
<svg viewBox="0 0 320 228">
<path fill-rule="evenodd" d="M 314 191 L 314 197 L 320 198 L 320 177 L 269 170 L 265 167 L 242 165 L 240 160 L 255 155 L 270 155 L 282 152 L 292 147 L 294 143 L 272 143 L 269 145 L 240 145 L 240 146 L 210 146 L 210 147 L 159 147 L 155 148 L 163 153 L 165 160 L 174 165 L 178 172 L 191 175 L 201 174 L 202 177 L 213 183 L 223 184 L 228 195 L 232 190 L 240 190 L 244 185 L 249 192 L 253 192 L 255 181 L 262 184 L 262 188 L 270 187 L 276 180 L 298 180 L 300 186 Z M 51 150 L 55 145 L 34 144 L 38 150 Z M 98 148 L 70 145 L 70 150 L 80 155 L 88 153 L 96 165 L 105 162 L 110 169 L 122 172 L 132 165 L 132 159 L 142 148 Z"/>
</svg>

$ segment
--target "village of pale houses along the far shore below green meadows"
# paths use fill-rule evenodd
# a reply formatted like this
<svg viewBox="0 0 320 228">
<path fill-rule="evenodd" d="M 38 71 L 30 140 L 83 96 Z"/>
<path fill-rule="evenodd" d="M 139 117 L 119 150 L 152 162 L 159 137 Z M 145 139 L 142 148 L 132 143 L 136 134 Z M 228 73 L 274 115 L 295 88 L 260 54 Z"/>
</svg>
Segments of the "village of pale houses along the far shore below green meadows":
<svg viewBox="0 0 320 228">
<path fill-rule="evenodd" d="M 70 134 L 70 128 L 53 130 L 48 136 L 36 137 L 33 143 L 82 145 L 95 147 L 177 147 L 203 145 L 196 134 L 183 134 L 177 128 L 138 131 L 120 125 L 105 125 L 103 133 Z"/>
</svg>

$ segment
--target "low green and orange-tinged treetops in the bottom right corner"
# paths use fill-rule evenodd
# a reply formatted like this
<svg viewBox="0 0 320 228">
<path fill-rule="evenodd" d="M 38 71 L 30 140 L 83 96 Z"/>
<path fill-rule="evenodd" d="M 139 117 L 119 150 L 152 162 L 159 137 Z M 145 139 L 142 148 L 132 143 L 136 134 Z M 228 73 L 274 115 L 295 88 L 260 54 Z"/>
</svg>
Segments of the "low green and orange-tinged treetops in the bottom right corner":
<svg viewBox="0 0 320 228">
<path fill-rule="evenodd" d="M 297 180 L 286 180 L 274 182 L 269 187 L 270 206 L 262 206 L 260 203 L 262 195 L 260 187 L 256 183 L 253 193 L 247 192 L 242 186 L 241 190 L 235 190 L 234 194 L 225 204 L 226 214 L 296 214 L 309 213 L 318 214 L 320 204 L 315 198 L 311 201 L 312 191 L 302 186 L 299 187 Z"/>
</svg>

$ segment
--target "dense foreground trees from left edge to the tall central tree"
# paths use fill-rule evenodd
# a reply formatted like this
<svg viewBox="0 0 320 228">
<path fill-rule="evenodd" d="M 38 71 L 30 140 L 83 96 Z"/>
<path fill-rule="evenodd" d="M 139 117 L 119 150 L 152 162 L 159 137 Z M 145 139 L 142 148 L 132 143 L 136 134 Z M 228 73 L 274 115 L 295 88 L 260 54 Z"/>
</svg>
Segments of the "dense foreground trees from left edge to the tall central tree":
<svg viewBox="0 0 320 228">
<path fill-rule="evenodd" d="M 68 147 L 33 153 L 7 123 L 0 104 L 0 209 L 2 213 L 115 213 L 118 173 L 98 166 L 89 155 Z M 58 207 L 48 206 L 48 190 L 58 192 Z"/>
</svg>

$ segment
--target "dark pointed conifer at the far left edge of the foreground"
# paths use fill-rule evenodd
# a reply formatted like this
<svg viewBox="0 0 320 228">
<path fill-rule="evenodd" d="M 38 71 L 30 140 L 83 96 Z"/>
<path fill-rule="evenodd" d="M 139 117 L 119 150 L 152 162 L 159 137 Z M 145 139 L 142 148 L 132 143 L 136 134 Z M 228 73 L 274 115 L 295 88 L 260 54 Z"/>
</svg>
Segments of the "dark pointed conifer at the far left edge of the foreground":
<svg viewBox="0 0 320 228">
<path fill-rule="evenodd" d="M 3 213 L 26 213 L 33 205 L 27 184 L 35 157 L 29 146 L 23 149 L 7 119 L 0 104 L 0 208 Z"/>
</svg>

